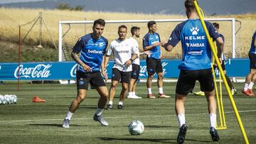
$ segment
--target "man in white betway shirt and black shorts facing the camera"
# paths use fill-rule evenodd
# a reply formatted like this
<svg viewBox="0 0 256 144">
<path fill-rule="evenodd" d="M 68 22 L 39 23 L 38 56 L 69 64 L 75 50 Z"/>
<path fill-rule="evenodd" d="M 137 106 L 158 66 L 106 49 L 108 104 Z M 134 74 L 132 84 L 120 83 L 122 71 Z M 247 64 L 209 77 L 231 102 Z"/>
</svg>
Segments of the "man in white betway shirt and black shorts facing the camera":
<svg viewBox="0 0 256 144">
<path fill-rule="evenodd" d="M 122 83 L 122 91 L 119 96 L 118 109 L 124 109 L 124 99 L 129 87 L 132 73 L 132 62 L 137 58 L 137 51 L 131 40 L 127 39 L 127 26 L 119 26 L 119 38 L 113 40 L 105 56 L 105 67 L 110 60 L 110 55 L 114 55 L 114 65 L 112 67 L 112 83 L 110 87 L 110 101 L 107 109 L 113 109 L 114 93 L 119 82 Z"/>
</svg>

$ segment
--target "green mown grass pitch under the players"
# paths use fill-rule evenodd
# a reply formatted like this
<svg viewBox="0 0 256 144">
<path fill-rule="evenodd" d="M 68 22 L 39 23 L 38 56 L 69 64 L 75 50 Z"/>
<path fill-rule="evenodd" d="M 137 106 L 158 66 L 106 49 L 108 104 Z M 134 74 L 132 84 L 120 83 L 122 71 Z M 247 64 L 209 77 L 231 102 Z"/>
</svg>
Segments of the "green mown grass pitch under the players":
<svg viewBox="0 0 256 144">
<path fill-rule="evenodd" d="M 198 91 L 198 83 L 195 91 Z M 110 84 L 107 84 L 110 87 Z M 114 109 L 103 111 L 109 126 L 92 120 L 99 95 L 93 89 L 70 121 L 70 128 L 62 128 L 63 118 L 76 95 L 75 84 L 16 84 L 0 85 L 0 94 L 16 94 L 17 104 L 0 105 L 0 143 L 176 143 L 178 121 L 174 110 L 176 83 L 164 83 L 164 92 L 171 99 L 147 99 L 146 84 L 138 84 L 137 95 L 143 99 L 125 99 L 124 109 L 117 109 L 121 85 L 117 88 Z M 256 143 L 256 99 L 241 93 L 243 83 L 236 83 L 238 94 L 233 96 L 240 111 L 250 143 Z M 154 95 L 158 94 L 156 83 Z M 217 143 L 244 143 L 235 113 L 223 89 L 226 130 L 219 130 Z M 32 97 L 46 99 L 33 103 Z M 144 123 L 142 135 L 130 135 L 127 126 L 132 120 Z M 188 95 L 186 101 L 188 131 L 185 143 L 214 143 L 209 134 L 206 98 Z M 216 142 L 215 142 L 216 143 Z"/>
</svg>

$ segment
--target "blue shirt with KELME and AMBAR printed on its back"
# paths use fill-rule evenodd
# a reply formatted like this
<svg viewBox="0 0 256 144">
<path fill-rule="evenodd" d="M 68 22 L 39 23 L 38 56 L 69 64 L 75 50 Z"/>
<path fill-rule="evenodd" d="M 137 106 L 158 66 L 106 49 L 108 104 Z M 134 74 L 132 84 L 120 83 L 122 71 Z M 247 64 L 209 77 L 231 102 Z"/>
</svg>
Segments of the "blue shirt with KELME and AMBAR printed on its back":
<svg viewBox="0 0 256 144">
<path fill-rule="evenodd" d="M 212 23 L 205 21 L 210 37 L 216 40 L 220 34 Z M 181 40 L 182 60 L 178 65 L 180 70 L 205 70 L 210 69 L 212 56 L 206 33 L 199 19 L 188 19 L 178 24 L 171 33 L 168 45 L 175 47 Z"/>
</svg>

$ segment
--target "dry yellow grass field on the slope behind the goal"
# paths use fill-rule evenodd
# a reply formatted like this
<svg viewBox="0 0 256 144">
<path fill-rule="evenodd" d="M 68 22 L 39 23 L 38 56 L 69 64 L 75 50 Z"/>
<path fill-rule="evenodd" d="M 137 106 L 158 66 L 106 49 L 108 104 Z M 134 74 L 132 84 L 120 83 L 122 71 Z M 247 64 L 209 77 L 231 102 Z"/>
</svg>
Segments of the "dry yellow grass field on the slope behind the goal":
<svg viewBox="0 0 256 144">
<path fill-rule="evenodd" d="M 158 15 L 158 14 L 142 14 L 142 13 L 111 13 L 111 12 L 96 12 L 96 11 L 58 11 L 45 9 L 6 9 L 0 8 L 0 39 L 1 40 L 18 40 L 18 25 L 23 25 L 37 18 L 39 12 L 43 12 L 43 21 L 45 21 L 53 40 L 58 45 L 58 21 L 93 21 L 97 18 L 105 20 L 137 20 L 137 19 L 171 19 L 171 18 L 186 18 L 178 15 Z M 256 27 L 256 13 L 244 15 L 230 15 L 230 16 L 206 16 L 206 18 L 236 18 L 242 22 L 242 28 L 236 35 L 236 55 L 238 57 L 247 57 L 247 52 L 250 48 L 252 33 Z M 22 37 L 26 35 L 28 30 L 33 26 L 32 21 L 26 25 L 21 26 Z M 142 45 L 142 38 L 147 33 L 146 23 L 124 23 L 128 28 L 132 26 L 139 26 L 141 28 L 141 38 L 139 38 L 139 45 Z M 169 38 L 171 31 L 174 30 L 178 23 L 158 23 L 158 33 L 161 40 L 166 41 Z M 120 24 L 107 24 L 103 35 L 110 42 L 117 38 L 117 28 Z M 236 29 L 239 24 L 236 23 Z M 68 26 L 63 26 L 63 33 L 68 30 Z M 63 38 L 63 43 L 74 45 L 76 40 L 85 33 L 92 31 L 91 24 L 71 25 L 70 31 Z M 225 36 L 225 53 L 228 57 L 231 56 L 231 23 L 220 22 L 220 33 Z M 33 27 L 31 33 L 26 38 L 26 43 L 38 40 L 39 35 L 39 21 Z M 127 37 L 130 37 L 127 35 Z M 47 33 L 46 27 L 43 26 L 43 45 L 50 43 L 50 36 Z M 140 48 L 142 51 L 142 47 Z M 165 58 L 181 57 L 181 45 L 172 52 L 164 52 Z"/>
</svg>

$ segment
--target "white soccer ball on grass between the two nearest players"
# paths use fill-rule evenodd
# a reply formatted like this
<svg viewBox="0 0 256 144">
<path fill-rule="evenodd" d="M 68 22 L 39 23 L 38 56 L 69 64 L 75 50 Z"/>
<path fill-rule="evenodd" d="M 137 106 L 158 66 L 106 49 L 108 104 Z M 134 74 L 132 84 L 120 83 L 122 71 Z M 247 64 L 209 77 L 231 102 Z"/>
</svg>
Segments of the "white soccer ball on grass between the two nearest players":
<svg viewBox="0 0 256 144">
<path fill-rule="evenodd" d="M 131 121 L 128 125 L 128 131 L 132 135 L 140 135 L 144 131 L 144 125 L 141 121 Z"/>
</svg>

